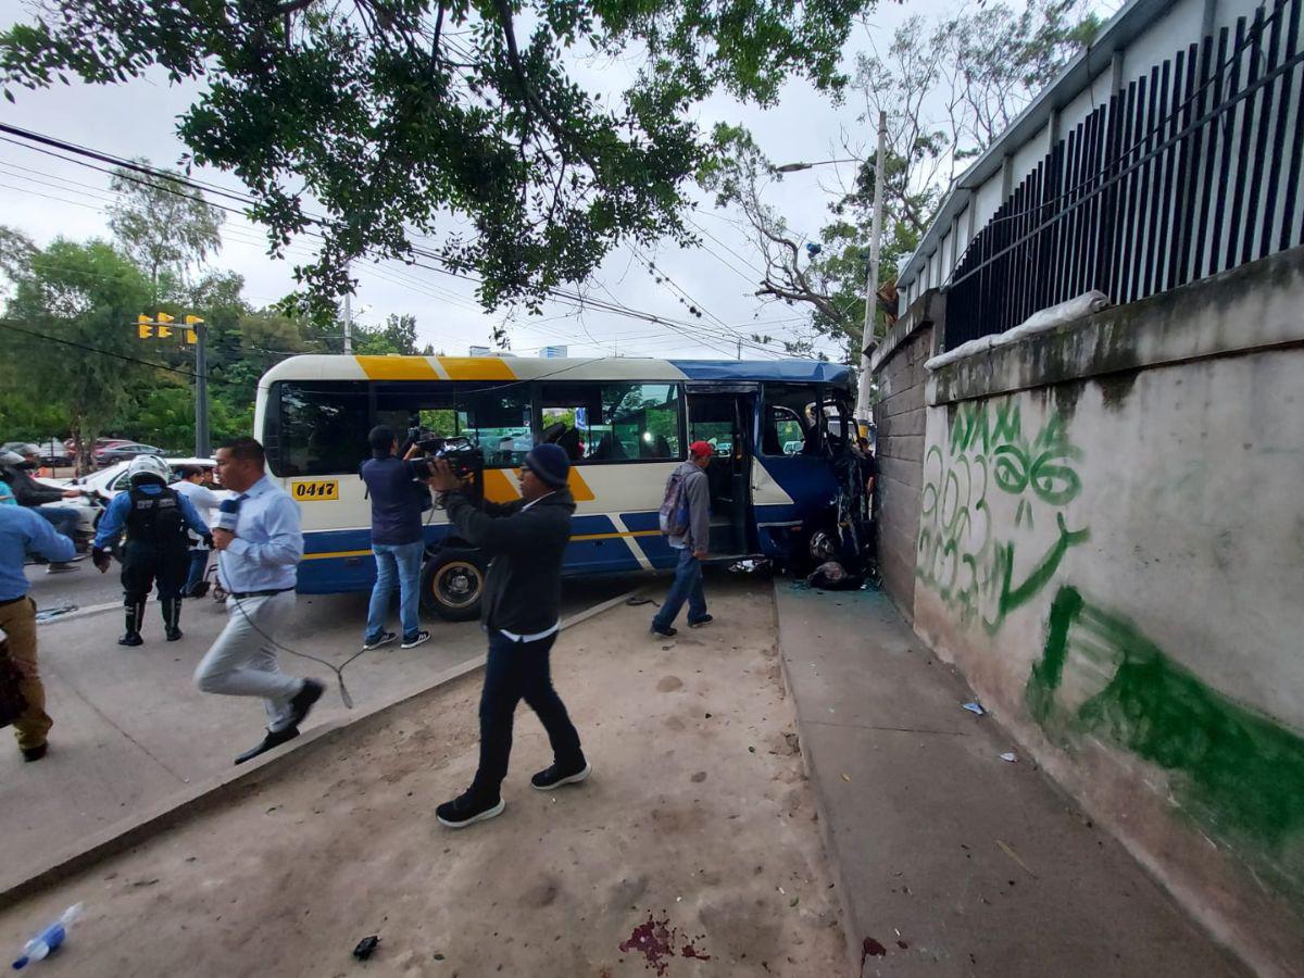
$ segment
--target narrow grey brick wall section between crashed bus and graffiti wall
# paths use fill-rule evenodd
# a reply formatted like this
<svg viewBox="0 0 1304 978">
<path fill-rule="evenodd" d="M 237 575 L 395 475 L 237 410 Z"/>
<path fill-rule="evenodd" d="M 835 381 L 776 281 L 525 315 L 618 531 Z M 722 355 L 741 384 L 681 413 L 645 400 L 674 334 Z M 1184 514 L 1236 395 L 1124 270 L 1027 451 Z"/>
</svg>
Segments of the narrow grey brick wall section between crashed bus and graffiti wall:
<svg viewBox="0 0 1304 978">
<path fill-rule="evenodd" d="M 913 619 L 914 554 L 923 479 L 923 361 L 932 355 L 932 325 L 900 339 L 875 366 L 878 425 L 879 572 L 892 602 Z"/>
</svg>

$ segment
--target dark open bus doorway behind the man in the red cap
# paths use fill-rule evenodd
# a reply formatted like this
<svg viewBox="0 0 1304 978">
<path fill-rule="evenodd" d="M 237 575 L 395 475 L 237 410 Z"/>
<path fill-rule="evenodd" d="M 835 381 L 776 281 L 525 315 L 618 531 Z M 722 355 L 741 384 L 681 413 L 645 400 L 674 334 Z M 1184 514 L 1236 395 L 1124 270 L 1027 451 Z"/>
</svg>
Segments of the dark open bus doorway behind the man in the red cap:
<svg viewBox="0 0 1304 978">
<path fill-rule="evenodd" d="M 689 443 L 709 442 L 711 556 L 756 553 L 751 528 L 751 456 L 755 385 L 689 385 Z"/>
</svg>

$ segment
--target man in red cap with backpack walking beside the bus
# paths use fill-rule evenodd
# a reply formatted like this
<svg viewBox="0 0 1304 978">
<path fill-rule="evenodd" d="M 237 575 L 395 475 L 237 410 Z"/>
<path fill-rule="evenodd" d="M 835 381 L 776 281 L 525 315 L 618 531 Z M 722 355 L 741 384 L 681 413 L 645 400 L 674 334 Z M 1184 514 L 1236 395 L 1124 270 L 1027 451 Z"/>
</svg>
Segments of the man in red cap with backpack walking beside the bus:
<svg viewBox="0 0 1304 978">
<path fill-rule="evenodd" d="M 674 619 L 689 602 L 689 627 L 698 629 L 711 621 L 707 614 L 707 596 L 702 589 L 702 561 L 707 556 L 711 537 L 711 485 L 707 466 L 716 454 L 709 442 L 689 446 L 689 460 L 679 464 L 665 482 L 665 502 L 661 505 L 661 532 L 670 546 L 679 552 L 674 569 L 674 583 L 665 604 L 652 619 L 652 634 L 670 638 L 675 634 Z"/>
</svg>

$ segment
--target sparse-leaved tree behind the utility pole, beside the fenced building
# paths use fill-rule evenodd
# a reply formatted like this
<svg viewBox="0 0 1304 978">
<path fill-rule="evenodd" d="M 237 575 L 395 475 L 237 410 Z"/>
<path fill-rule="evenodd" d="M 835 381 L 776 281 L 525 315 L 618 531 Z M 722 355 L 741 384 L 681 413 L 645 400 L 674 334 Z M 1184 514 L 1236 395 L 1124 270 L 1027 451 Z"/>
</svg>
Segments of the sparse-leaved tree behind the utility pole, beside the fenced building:
<svg viewBox="0 0 1304 978">
<path fill-rule="evenodd" d="M 854 179 L 835 189 L 829 219 L 816 240 L 794 235 L 765 200 L 782 179 L 750 133 L 717 126 L 713 153 L 700 170 L 719 206 L 742 213 L 764 261 L 758 295 L 803 305 L 812 338 L 838 342 L 848 363 L 859 357 L 865 283 L 876 183 L 879 111 L 887 113 L 884 222 L 879 304 L 891 305 L 897 265 L 927 230 L 951 184 L 1099 29 L 1078 0 L 1031 0 L 1016 9 L 983 4 L 927 21 L 911 17 L 887 50 L 857 56 L 849 96 L 859 100 L 863 138 L 837 153 L 861 159 Z M 814 248 L 807 248 L 814 245 Z M 876 331 L 884 319 L 876 314 Z M 763 339 L 769 339 L 768 336 Z M 811 340 L 789 344 L 794 352 Z"/>
</svg>

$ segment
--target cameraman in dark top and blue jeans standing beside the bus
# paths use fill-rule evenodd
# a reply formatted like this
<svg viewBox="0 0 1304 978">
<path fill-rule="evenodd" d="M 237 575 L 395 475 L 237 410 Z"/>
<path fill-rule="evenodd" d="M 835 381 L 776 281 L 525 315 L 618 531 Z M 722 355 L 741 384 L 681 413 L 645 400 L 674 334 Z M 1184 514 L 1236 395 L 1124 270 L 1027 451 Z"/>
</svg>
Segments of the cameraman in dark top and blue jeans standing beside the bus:
<svg viewBox="0 0 1304 978">
<path fill-rule="evenodd" d="M 430 640 L 430 632 L 421 630 L 417 618 L 421 558 L 425 556 L 421 511 L 430 509 L 430 490 L 424 485 L 430 477 L 430 466 L 422 459 L 412 458 L 421 450 L 415 439 L 407 454 L 398 458 L 399 442 L 389 425 L 373 428 L 368 442 L 372 458 L 363 463 L 363 481 L 366 482 L 366 493 L 372 499 L 376 585 L 366 612 L 363 649 L 389 645 L 398 638 L 393 631 L 385 630 L 395 584 L 399 591 L 399 619 L 403 623 L 400 648 L 416 648 Z"/>
</svg>

